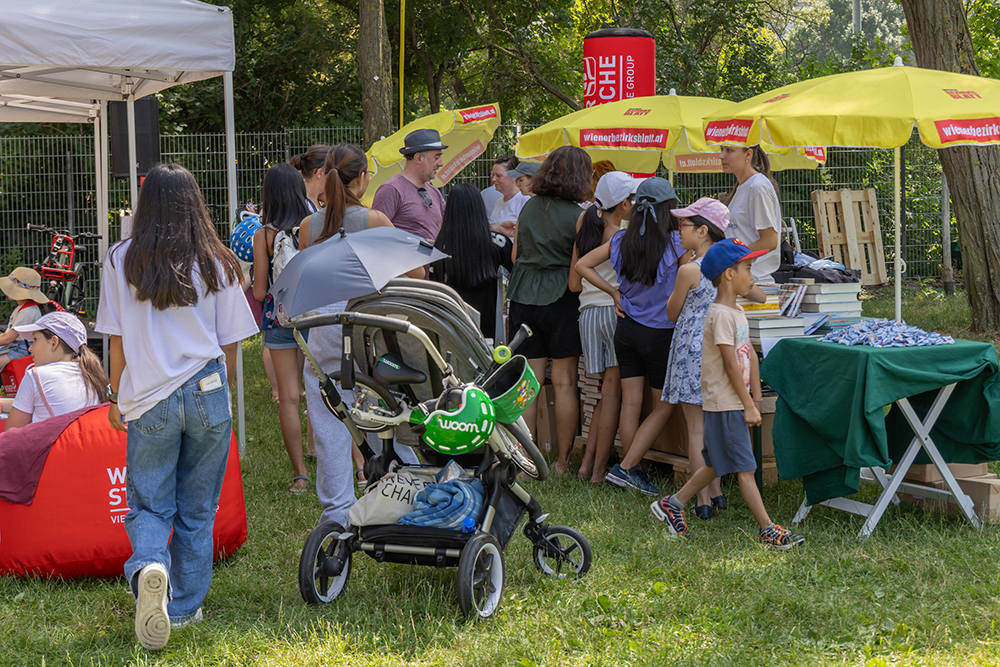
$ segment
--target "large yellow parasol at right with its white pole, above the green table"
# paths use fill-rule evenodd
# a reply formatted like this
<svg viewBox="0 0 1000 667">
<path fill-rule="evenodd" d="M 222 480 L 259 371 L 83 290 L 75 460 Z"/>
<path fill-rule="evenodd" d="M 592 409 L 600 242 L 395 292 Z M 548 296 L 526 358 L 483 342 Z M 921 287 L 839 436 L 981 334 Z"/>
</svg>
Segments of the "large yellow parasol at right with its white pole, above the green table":
<svg viewBox="0 0 1000 667">
<path fill-rule="evenodd" d="M 896 319 L 901 316 L 899 148 L 913 127 L 931 148 L 1000 144 L 1000 81 L 903 67 L 833 74 L 751 97 L 706 116 L 709 144 L 894 148 Z"/>
</svg>

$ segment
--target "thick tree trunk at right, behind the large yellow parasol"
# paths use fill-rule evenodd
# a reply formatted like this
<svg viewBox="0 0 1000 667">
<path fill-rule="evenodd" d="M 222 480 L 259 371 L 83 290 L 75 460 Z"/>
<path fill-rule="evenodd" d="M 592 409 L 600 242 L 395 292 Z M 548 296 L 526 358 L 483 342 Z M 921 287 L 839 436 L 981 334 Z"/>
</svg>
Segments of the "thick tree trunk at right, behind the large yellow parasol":
<svg viewBox="0 0 1000 667">
<path fill-rule="evenodd" d="M 917 64 L 979 76 L 962 0 L 903 0 Z M 1000 150 L 938 151 L 948 178 L 962 248 L 972 330 L 1000 330 Z"/>
</svg>

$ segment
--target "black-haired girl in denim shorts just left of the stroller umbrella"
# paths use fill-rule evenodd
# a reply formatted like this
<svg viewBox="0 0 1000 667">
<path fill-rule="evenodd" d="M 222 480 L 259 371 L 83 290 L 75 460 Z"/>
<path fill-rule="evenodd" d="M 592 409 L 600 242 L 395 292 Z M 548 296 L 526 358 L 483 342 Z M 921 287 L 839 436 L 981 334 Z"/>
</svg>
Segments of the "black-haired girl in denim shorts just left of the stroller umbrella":
<svg viewBox="0 0 1000 667">
<path fill-rule="evenodd" d="M 263 227 L 253 237 L 253 295 L 258 301 L 263 302 L 267 290 L 271 288 L 274 242 L 278 232 L 293 233 L 308 214 L 306 187 L 295 167 L 279 163 L 268 169 L 261 191 L 260 220 Z M 289 488 L 292 492 L 302 493 L 309 484 L 302 457 L 302 422 L 299 419 L 305 357 L 290 328 L 265 329 L 264 347 L 271 351 L 274 377 L 278 383 L 278 421 L 292 464 L 293 476 Z"/>
</svg>

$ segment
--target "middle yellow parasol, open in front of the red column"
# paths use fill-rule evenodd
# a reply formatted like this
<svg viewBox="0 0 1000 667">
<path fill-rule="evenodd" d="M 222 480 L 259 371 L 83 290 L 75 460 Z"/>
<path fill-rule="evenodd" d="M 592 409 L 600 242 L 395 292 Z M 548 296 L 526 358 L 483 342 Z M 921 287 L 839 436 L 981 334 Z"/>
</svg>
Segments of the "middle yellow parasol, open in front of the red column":
<svg viewBox="0 0 1000 667">
<path fill-rule="evenodd" d="M 718 150 L 705 142 L 702 118 L 733 106 L 712 97 L 636 97 L 583 109 L 521 135 L 517 156 L 540 161 L 560 146 L 577 146 L 591 159 L 610 160 L 617 169 L 653 173 L 662 162 L 673 171 L 722 171 Z M 815 169 L 822 149 L 765 147 L 772 167 Z"/>
</svg>

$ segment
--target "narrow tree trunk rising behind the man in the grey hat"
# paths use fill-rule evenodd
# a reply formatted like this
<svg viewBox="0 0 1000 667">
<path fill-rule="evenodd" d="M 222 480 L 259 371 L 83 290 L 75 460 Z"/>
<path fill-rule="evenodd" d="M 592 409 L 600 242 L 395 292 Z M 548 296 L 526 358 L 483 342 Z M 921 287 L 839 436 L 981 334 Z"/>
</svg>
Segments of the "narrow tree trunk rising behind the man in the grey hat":
<svg viewBox="0 0 1000 667">
<path fill-rule="evenodd" d="M 361 117 L 368 150 L 392 134 L 392 49 L 385 27 L 382 0 L 361 0 L 358 18 L 358 73 L 361 76 Z"/>
</svg>

